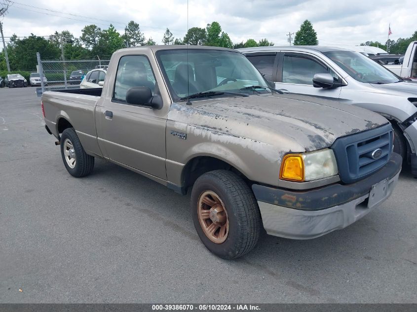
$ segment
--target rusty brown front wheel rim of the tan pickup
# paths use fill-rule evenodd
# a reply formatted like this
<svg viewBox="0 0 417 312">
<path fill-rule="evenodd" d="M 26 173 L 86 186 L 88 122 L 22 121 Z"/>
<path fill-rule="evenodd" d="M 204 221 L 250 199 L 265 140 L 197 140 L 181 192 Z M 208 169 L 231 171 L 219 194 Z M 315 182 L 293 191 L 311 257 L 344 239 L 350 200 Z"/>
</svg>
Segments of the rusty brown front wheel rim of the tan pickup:
<svg viewBox="0 0 417 312">
<path fill-rule="evenodd" d="M 207 238 L 213 243 L 224 243 L 229 233 L 227 210 L 220 197 L 205 191 L 198 197 L 198 220 Z"/>
</svg>

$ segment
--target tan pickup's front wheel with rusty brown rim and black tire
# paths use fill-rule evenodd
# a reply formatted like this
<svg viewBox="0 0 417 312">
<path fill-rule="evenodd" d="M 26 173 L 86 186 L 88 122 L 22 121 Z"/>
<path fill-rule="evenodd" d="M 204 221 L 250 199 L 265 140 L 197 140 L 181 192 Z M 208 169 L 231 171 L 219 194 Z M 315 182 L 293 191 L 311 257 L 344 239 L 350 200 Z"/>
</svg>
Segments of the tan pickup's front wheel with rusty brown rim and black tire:
<svg viewBox="0 0 417 312">
<path fill-rule="evenodd" d="M 191 216 L 200 240 L 223 259 L 248 253 L 261 235 L 255 196 L 245 181 L 230 171 L 211 171 L 195 181 Z"/>
</svg>

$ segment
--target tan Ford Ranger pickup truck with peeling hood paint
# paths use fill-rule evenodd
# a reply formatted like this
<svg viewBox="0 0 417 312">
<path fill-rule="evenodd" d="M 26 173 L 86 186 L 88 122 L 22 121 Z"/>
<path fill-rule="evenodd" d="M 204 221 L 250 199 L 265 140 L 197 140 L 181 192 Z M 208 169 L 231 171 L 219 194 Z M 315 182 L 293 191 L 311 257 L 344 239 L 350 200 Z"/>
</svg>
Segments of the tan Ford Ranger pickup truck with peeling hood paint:
<svg viewBox="0 0 417 312">
<path fill-rule="evenodd" d="M 232 259 L 263 227 L 311 239 L 352 224 L 401 170 L 385 118 L 269 86 L 238 51 L 137 47 L 113 54 L 103 89 L 47 91 L 42 109 L 70 174 L 99 157 L 192 189 L 198 236 Z"/>
</svg>

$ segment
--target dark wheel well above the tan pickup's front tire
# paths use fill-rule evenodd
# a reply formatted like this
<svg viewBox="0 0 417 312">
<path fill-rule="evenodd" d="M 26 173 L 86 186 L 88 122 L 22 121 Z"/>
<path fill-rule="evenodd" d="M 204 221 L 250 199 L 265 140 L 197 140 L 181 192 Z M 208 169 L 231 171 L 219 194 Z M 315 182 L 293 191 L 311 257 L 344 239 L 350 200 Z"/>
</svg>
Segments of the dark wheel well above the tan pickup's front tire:
<svg viewBox="0 0 417 312">
<path fill-rule="evenodd" d="M 184 167 L 182 173 L 183 187 L 187 190 L 200 175 L 213 170 L 229 170 L 249 182 L 249 179 L 243 173 L 227 162 L 210 156 L 199 156 L 191 159 Z"/>
</svg>

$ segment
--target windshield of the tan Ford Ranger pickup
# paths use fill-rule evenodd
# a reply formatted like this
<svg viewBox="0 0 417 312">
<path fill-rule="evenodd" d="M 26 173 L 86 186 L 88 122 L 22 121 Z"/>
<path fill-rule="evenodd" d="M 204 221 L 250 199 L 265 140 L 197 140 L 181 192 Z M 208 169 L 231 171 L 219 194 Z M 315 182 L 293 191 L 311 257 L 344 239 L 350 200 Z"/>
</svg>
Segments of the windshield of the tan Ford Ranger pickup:
<svg viewBox="0 0 417 312">
<path fill-rule="evenodd" d="M 222 96 L 227 92 L 271 93 L 262 74 L 240 53 L 181 49 L 161 50 L 156 56 L 175 100 L 209 91 L 213 92 L 207 95 L 213 96 L 222 91 Z M 249 86 L 260 88 L 242 90 Z"/>
</svg>

